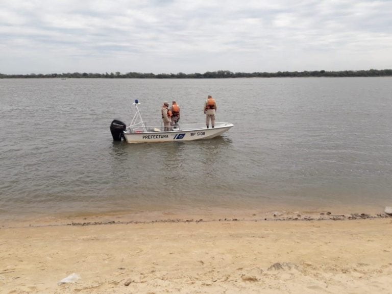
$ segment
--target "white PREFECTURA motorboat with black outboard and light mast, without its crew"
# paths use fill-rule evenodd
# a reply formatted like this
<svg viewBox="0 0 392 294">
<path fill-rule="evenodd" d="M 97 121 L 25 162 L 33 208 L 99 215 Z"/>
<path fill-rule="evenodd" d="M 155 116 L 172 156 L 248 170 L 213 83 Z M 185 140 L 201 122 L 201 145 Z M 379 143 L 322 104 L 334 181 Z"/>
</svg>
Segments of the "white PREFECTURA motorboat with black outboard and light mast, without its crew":
<svg viewBox="0 0 392 294">
<path fill-rule="evenodd" d="M 211 139 L 234 126 L 230 122 L 215 121 L 214 128 L 207 128 L 205 124 L 178 124 L 171 126 L 170 131 L 163 131 L 162 125 L 145 124 L 138 108 L 140 103 L 135 100 L 133 105 L 136 112 L 129 126 L 117 119 L 112 121 L 110 131 L 115 141 L 125 139 L 128 143 L 153 143 Z"/>
</svg>

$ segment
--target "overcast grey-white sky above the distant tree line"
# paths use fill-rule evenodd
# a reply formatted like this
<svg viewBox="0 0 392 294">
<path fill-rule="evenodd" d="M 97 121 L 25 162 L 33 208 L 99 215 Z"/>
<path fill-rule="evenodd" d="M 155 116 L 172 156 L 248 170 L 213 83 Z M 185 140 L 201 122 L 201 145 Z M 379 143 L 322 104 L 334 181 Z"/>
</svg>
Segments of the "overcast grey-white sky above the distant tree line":
<svg viewBox="0 0 392 294">
<path fill-rule="evenodd" d="M 392 68 L 392 1 L 0 0 L 0 73 Z"/>
</svg>

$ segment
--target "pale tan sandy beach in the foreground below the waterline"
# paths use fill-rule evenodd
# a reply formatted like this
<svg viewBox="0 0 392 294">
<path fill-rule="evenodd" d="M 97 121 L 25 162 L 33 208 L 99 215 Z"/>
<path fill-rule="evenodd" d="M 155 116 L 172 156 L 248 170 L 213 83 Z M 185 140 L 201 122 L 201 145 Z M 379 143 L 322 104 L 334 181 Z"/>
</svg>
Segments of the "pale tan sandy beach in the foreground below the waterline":
<svg viewBox="0 0 392 294">
<path fill-rule="evenodd" d="M 0 293 L 392 292 L 390 217 L 93 224 L 0 228 Z"/>
</svg>

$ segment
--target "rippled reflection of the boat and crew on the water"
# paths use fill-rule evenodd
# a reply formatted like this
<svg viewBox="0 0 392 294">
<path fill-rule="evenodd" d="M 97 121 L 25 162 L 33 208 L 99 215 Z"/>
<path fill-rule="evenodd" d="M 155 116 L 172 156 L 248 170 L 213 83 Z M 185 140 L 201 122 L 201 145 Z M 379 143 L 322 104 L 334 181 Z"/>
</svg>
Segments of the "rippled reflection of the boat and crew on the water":
<svg viewBox="0 0 392 294">
<path fill-rule="evenodd" d="M 168 181 L 186 181 L 198 174 L 218 173 L 219 166 L 230 160 L 225 157 L 232 139 L 218 136 L 192 142 L 146 144 L 111 143 L 113 171 L 127 184 L 166 185 Z M 222 170 L 220 171 L 222 172 Z M 183 183 L 184 184 L 184 183 Z M 183 188 L 186 188 L 186 183 Z M 133 187 L 135 189 L 135 187 Z"/>
</svg>

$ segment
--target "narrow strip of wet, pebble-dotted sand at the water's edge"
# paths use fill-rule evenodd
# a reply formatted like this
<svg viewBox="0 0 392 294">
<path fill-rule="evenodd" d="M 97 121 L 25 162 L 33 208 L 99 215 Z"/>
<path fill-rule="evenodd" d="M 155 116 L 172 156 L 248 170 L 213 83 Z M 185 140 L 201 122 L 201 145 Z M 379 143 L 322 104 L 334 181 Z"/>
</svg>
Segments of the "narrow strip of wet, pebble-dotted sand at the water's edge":
<svg viewBox="0 0 392 294">
<path fill-rule="evenodd" d="M 328 210 L 315 211 L 267 211 L 227 210 L 209 212 L 159 212 L 159 213 L 97 213 L 59 216 L 36 216 L 2 220 L 0 228 L 44 227 L 44 226 L 91 226 L 110 224 L 149 224 L 149 223 L 199 223 L 199 222 L 263 222 L 263 221 L 311 221 L 311 220 L 356 220 L 392 217 L 380 211 L 377 213 L 332 213 Z"/>
</svg>

